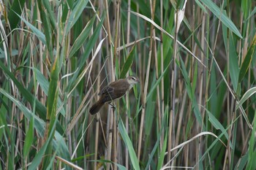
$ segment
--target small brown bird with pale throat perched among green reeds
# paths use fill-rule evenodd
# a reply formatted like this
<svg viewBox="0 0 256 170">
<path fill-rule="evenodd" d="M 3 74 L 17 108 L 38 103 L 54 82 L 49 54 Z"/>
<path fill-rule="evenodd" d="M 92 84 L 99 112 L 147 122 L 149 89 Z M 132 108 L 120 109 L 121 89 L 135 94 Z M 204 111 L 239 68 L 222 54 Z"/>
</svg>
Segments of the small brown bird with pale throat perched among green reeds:
<svg viewBox="0 0 256 170">
<path fill-rule="evenodd" d="M 91 113 L 91 115 L 99 112 L 99 109 L 105 103 L 110 103 L 118 98 L 121 98 L 133 87 L 133 85 L 137 84 L 138 82 L 140 82 L 138 78 L 133 76 L 111 82 L 99 92 L 99 101 L 92 105 L 89 112 Z"/>
</svg>

